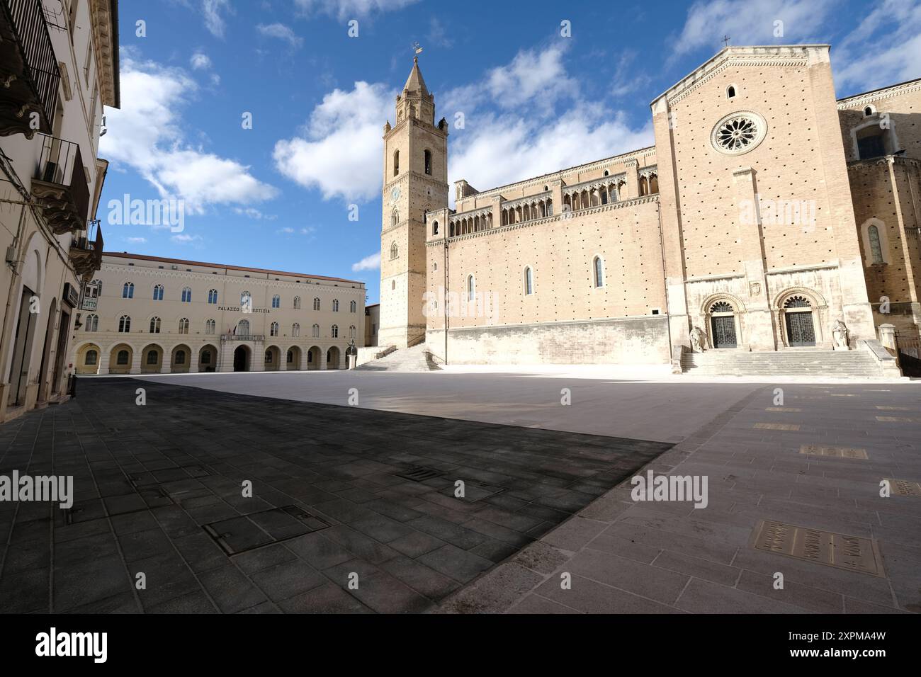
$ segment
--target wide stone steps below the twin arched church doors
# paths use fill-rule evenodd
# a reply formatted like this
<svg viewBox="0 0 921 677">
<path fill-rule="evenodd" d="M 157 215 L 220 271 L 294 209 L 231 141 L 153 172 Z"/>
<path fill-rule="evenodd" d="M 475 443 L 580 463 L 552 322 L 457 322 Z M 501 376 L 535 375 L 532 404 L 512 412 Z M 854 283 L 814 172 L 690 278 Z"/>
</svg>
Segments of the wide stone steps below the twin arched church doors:
<svg viewBox="0 0 921 677">
<path fill-rule="evenodd" d="M 880 364 L 867 350 L 788 350 L 684 353 L 682 373 L 699 376 L 813 376 L 822 379 L 882 379 Z"/>
</svg>

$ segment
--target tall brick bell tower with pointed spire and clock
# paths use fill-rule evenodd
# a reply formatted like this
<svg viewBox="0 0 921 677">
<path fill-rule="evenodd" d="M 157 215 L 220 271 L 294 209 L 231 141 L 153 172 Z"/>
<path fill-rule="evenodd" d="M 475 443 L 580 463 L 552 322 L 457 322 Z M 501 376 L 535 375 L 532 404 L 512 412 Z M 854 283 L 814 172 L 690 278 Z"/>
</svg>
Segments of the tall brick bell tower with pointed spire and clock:
<svg viewBox="0 0 921 677">
<path fill-rule="evenodd" d="M 435 123 L 435 97 L 419 59 L 384 125 L 378 344 L 405 348 L 426 338 L 426 212 L 448 206 L 448 123 Z"/>
</svg>

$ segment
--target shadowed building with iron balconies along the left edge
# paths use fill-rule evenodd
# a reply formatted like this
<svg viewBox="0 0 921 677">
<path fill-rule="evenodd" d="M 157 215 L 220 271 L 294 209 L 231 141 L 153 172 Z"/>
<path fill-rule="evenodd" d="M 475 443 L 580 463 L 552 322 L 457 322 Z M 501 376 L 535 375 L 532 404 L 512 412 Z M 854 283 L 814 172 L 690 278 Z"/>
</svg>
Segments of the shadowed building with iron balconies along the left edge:
<svg viewBox="0 0 921 677">
<path fill-rule="evenodd" d="M 67 397 L 118 49 L 117 0 L 0 0 L 0 422 Z"/>
</svg>

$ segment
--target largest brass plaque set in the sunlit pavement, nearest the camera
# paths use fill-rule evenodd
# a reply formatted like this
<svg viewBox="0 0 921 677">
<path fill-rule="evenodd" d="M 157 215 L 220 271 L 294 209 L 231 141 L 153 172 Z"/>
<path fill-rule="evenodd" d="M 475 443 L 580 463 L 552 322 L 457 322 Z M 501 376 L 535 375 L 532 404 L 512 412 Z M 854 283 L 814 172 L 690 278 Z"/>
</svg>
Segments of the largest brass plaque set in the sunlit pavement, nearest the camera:
<svg viewBox="0 0 921 677">
<path fill-rule="evenodd" d="M 869 538 L 762 519 L 754 528 L 755 550 L 885 578 L 880 550 Z"/>
</svg>

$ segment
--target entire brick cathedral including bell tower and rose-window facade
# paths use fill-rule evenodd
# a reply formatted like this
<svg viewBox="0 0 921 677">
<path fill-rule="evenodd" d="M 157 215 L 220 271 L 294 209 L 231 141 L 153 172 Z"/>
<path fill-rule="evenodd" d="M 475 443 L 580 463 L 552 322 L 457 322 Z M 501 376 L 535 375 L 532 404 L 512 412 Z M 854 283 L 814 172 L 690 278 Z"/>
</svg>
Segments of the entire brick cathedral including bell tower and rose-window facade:
<svg viewBox="0 0 921 677">
<path fill-rule="evenodd" d="M 921 81 L 836 100 L 828 45 L 728 47 L 652 101 L 655 146 L 456 181 L 450 208 L 449 125 L 414 64 L 384 128 L 379 344 L 680 365 L 916 337 L 919 107 Z"/>
</svg>

